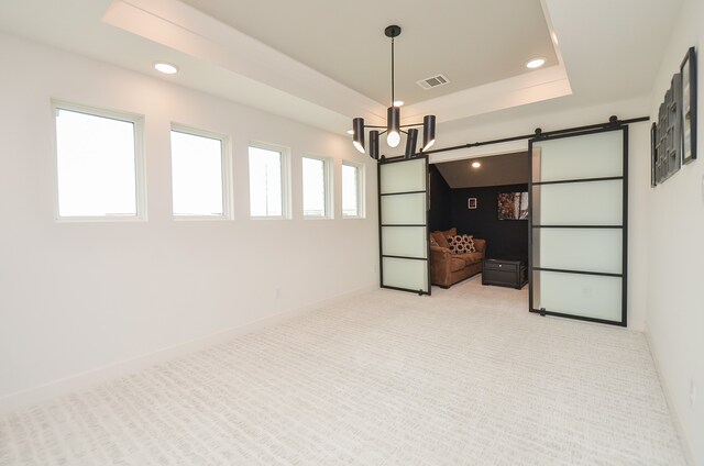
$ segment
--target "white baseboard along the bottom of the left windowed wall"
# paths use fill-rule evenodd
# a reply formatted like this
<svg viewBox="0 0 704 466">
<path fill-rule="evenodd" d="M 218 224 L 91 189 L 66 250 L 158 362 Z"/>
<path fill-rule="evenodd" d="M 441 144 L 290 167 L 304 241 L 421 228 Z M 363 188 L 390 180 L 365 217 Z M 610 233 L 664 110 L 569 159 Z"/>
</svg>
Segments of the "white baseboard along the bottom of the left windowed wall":
<svg viewBox="0 0 704 466">
<path fill-rule="evenodd" d="M 305 304 L 299 308 L 283 311 L 264 319 L 249 322 L 243 325 L 232 326 L 230 329 L 212 333 L 201 339 L 196 339 L 177 345 L 164 347 L 162 350 L 157 350 L 142 356 L 74 374 L 68 377 L 52 380 L 38 387 L 7 395 L 0 398 L 0 415 L 25 409 L 32 404 L 51 400 L 52 398 L 89 389 L 97 385 L 108 382 L 118 377 L 123 377 L 125 375 L 145 369 L 150 366 L 163 364 L 177 357 L 195 353 L 197 351 L 205 350 L 220 343 L 226 343 L 237 336 L 284 323 L 294 318 L 304 315 L 308 312 L 318 310 L 326 306 L 337 304 L 344 300 L 354 298 L 363 293 L 367 293 L 376 289 L 378 289 L 378 286 L 376 285 L 356 289 L 354 291 L 338 295 L 332 298 L 327 298 L 320 301 Z"/>
</svg>

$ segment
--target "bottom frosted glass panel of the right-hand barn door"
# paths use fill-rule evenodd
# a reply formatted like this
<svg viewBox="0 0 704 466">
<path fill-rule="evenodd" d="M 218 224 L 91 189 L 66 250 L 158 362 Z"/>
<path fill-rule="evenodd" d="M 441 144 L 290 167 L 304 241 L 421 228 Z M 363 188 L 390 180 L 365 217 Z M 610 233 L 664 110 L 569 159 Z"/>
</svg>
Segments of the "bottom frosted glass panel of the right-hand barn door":
<svg viewBox="0 0 704 466">
<path fill-rule="evenodd" d="M 534 309 L 622 321 L 620 277 L 535 270 L 534 287 Z"/>
</svg>

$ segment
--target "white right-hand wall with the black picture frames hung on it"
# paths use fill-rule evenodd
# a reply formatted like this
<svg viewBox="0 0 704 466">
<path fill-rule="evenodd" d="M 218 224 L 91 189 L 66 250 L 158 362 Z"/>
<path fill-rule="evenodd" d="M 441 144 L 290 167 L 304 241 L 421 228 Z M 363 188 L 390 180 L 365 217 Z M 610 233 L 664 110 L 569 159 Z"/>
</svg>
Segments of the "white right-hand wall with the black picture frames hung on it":
<svg viewBox="0 0 704 466">
<path fill-rule="evenodd" d="M 704 2 L 686 0 L 657 76 L 650 115 L 670 87 L 689 47 L 698 58 L 700 159 L 648 191 L 649 233 L 647 332 L 670 406 L 694 464 L 704 465 Z M 697 395 L 690 401 L 691 384 Z"/>
</svg>

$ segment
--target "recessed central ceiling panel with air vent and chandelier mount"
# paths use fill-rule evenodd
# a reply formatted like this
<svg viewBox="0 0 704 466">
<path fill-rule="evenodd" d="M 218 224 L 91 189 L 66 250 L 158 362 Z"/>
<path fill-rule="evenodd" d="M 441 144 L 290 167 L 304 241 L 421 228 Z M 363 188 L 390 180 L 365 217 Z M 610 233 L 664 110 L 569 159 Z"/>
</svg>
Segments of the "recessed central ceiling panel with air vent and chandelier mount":
<svg viewBox="0 0 704 466">
<path fill-rule="evenodd" d="M 436 0 L 413 8 L 378 0 L 183 1 L 386 106 L 391 41 L 384 29 L 391 24 L 403 29 L 395 81 L 406 103 L 528 73 L 534 57 L 558 63 L 540 0 Z M 450 84 L 416 85 L 438 74 Z"/>
</svg>

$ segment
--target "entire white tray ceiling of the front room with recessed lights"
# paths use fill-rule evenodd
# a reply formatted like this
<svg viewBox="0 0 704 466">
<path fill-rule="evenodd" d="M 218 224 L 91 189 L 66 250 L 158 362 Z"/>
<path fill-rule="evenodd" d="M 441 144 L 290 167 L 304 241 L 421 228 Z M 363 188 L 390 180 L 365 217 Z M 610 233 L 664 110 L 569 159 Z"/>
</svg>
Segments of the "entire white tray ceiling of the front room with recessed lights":
<svg viewBox="0 0 704 466">
<path fill-rule="evenodd" d="M 385 120 L 388 24 L 405 122 L 648 95 L 681 0 L 22 0 L 0 31 L 343 133 Z M 552 33 L 559 46 L 551 41 Z M 535 55 L 548 66 L 527 71 Z M 157 59 L 180 73 L 153 70 Z M 446 74 L 446 87 L 415 81 Z"/>
</svg>

